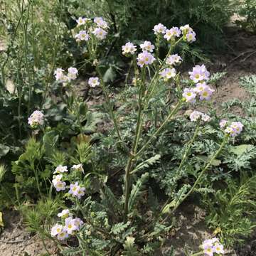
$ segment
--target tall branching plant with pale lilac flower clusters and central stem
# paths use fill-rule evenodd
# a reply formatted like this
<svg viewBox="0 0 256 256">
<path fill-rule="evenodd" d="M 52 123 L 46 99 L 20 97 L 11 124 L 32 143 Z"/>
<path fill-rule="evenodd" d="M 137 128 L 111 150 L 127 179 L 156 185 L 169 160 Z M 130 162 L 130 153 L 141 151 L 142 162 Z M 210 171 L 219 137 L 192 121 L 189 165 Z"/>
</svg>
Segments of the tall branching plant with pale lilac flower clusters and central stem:
<svg viewBox="0 0 256 256">
<path fill-rule="evenodd" d="M 83 172 L 85 171 L 86 174 L 86 170 L 81 162 L 76 162 L 72 167 L 63 164 L 55 166 L 52 180 L 53 187 L 56 193 L 71 201 L 73 206 L 70 210 L 65 209 L 58 214 L 63 220 L 53 225 L 50 234 L 53 239 L 57 238 L 60 246 L 62 246 L 61 241 L 69 239 L 71 236 L 77 239 L 79 246 L 65 248 L 63 250 L 64 254 L 89 252 L 94 255 L 96 249 L 102 252 L 111 252 L 112 250 L 119 252 L 123 250 L 122 247 L 127 255 L 144 255 L 148 252 L 147 250 L 154 252 L 156 247 L 164 244 L 162 238 L 171 228 L 169 217 L 196 190 L 206 171 L 218 157 L 225 144 L 228 143 L 230 137 L 240 134 L 243 126 L 240 122 L 220 122 L 220 129 L 223 129 L 223 142 L 203 166 L 196 181 L 191 186 L 187 186 L 179 198 L 167 198 L 164 205 L 157 208 L 154 218 L 150 218 L 146 222 L 139 221 L 141 213 L 139 213 L 138 202 L 144 194 L 142 191 L 146 189 L 146 183 L 149 179 L 149 173 L 142 170 L 145 166 L 158 161 L 160 156 L 156 155 L 144 161 L 140 159 L 144 159 L 146 150 L 164 132 L 166 125 L 178 118 L 178 112 L 182 107 L 190 106 L 196 109 L 198 104 L 201 105 L 203 102 L 210 100 L 214 92 L 213 88 L 207 85 L 210 73 L 205 65 L 196 65 L 188 73 L 190 79 L 186 87 L 180 82 L 177 68 L 183 60 L 174 51 L 181 41 L 193 43 L 196 40 L 196 33 L 188 25 L 181 26 L 181 28 L 167 29 L 159 23 L 153 29 L 156 35 L 156 43 L 144 41 L 138 47 L 134 43 L 128 42 L 122 46 L 122 54 L 127 58 L 131 58 L 134 68 L 133 82 L 137 89 L 135 96 L 136 124 L 134 129 L 131 130 L 130 143 L 125 139 L 120 119 L 117 118 L 117 114 L 113 110 L 107 85 L 102 78 L 100 60 L 97 59 L 97 50 L 100 48 L 101 42 L 107 37 L 109 26 L 100 17 L 96 17 L 93 20 L 80 17 L 77 23 L 78 27 L 75 31 L 78 32 L 74 34 L 74 37 L 79 44 L 85 43 L 90 56 L 88 61 L 95 65 L 97 72 L 97 75 L 89 79 L 88 84 L 92 87 L 92 90 L 94 87 L 102 88 L 107 110 L 109 111 L 110 119 L 112 119 L 117 137 L 117 146 L 127 161 L 124 169 L 124 190 L 121 200 L 119 200 L 105 184 L 103 188 L 100 188 L 101 200 L 95 201 L 89 196 L 85 186 L 88 175 L 95 174 L 90 173 L 83 176 Z M 169 51 L 166 53 L 164 60 L 159 58 L 159 43 L 161 41 L 166 41 L 169 44 Z M 141 52 L 139 52 L 139 49 Z M 65 75 L 64 70 L 58 69 L 55 71 L 55 78 L 64 84 L 69 84 L 71 80 L 77 77 L 77 71 L 75 68 L 70 68 L 68 69 L 68 75 Z M 173 90 L 176 95 L 174 106 L 169 106 L 163 121 L 156 122 L 154 132 L 149 134 L 146 142 L 142 144 L 142 137 L 145 133 L 146 112 L 151 107 L 151 100 L 156 95 L 160 83 L 166 87 L 175 85 Z M 186 146 L 181 163 L 178 166 L 177 175 L 181 172 L 201 127 L 210 122 L 211 117 L 208 114 L 194 110 L 190 114 L 190 119 L 191 122 L 196 123 L 196 130 L 191 141 Z M 70 216 L 70 212 L 74 213 L 76 217 Z M 214 246 L 217 246 L 217 244 Z M 222 247 L 219 247 L 214 250 L 220 252 Z M 205 250 L 210 251 L 211 247 Z"/>
</svg>

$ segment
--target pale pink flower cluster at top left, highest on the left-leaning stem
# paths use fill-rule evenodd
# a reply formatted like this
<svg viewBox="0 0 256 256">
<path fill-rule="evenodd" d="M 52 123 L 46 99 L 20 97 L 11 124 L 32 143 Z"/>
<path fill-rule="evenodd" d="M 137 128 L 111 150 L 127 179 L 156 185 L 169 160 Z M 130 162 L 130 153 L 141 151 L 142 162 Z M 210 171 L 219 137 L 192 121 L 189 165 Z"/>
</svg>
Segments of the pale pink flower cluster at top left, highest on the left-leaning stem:
<svg viewBox="0 0 256 256">
<path fill-rule="evenodd" d="M 95 17 L 93 19 L 93 23 L 90 18 L 82 18 L 82 17 L 79 17 L 76 21 L 78 23 L 78 27 L 85 26 L 85 29 L 79 31 L 79 33 L 75 35 L 76 41 L 79 42 L 79 41 L 90 40 L 91 38 L 90 33 L 92 33 L 92 35 L 97 40 L 103 40 L 106 38 L 107 29 L 109 28 L 109 26 L 107 25 L 107 22 L 102 17 Z"/>
</svg>

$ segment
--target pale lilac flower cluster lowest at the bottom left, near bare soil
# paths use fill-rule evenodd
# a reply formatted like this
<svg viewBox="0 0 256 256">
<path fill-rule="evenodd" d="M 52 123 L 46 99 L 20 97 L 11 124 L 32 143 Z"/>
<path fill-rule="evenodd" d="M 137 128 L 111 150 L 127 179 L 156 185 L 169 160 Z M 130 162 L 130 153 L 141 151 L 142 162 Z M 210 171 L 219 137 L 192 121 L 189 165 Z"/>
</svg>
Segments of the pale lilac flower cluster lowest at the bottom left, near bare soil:
<svg viewBox="0 0 256 256">
<path fill-rule="evenodd" d="M 63 219 L 63 223 L 57 223 L 50 229 L 50 235 L 57 237 L 58 240 L 65 240 L 70 235 L 75 235 L 83 225 L 83 221 L 80 218 L 73 218 L 68 209 L 58 213 L 58 217 Z"/>
</svg>

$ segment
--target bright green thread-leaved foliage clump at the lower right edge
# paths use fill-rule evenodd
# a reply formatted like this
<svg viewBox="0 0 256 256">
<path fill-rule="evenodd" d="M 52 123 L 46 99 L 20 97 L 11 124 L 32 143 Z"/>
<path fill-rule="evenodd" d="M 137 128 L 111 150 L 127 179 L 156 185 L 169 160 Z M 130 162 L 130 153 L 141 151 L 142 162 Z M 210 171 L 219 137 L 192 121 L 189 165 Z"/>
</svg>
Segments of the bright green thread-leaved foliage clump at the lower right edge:
<svg viewBox="0 0 256 256">
<path fill-rule="evenodd" d="M 206 198 L 208 216 L 206 222 L 211 228 L 220 228 L 223 240 L 229 245 L 242 242 L 252 234 L 256 212 L 256 176 L 242 176 L 241 181 L 229 180 L 227 188 Z"/>
</svg>

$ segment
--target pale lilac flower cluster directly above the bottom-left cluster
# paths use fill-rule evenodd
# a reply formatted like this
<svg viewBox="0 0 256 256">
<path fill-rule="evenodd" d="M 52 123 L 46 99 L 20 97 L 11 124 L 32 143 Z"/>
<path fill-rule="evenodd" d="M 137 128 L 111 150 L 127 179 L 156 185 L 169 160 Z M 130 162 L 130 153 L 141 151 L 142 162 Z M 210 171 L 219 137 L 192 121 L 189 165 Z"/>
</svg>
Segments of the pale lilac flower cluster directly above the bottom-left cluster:
<svg viewBox="0 0 256 256">
<path fill-rule="evenodd" d="M 82 171 L 84 172 L 84 169 L 82 168 L 82 164 L 74 164 L 71 167 L 71 170 L 73 171 Z M 78 185 L 78 182 L 71 183 L 70 186 L 67 186 L 65 181 L 63 181 L 64 174 L 68 172 L 67 166 L 59 165 L 55 168 L 54 175 L 53 176 L 53 186 L 55 187 L 56 191 L 65 191 L 66 188 L 70 188 L 68 193 L 80 199 L 82 196 L 85 196 L 85 188 L 83 186 Z"/>
</svg>

